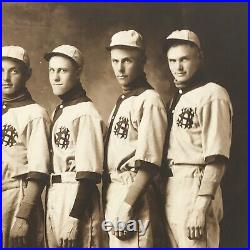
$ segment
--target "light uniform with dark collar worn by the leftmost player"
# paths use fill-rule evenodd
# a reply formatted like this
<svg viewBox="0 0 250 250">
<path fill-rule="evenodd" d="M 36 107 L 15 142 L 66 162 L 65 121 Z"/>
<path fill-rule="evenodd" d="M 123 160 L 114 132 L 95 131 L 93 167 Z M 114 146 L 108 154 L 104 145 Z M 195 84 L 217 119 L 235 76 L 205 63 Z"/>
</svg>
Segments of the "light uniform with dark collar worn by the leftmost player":
<svg viewBox="0 0 250 250">
<path fill-rule="evenodd" d="M 27 187 L 27 178 L 49 179 L 47 112 L 30 96 L 2 106 L 2 237 L 9 247 L 9 234 Z M 43 209 L 38 201 L 30 218 L 30 247 L 43 246 Z"/>
</svg>

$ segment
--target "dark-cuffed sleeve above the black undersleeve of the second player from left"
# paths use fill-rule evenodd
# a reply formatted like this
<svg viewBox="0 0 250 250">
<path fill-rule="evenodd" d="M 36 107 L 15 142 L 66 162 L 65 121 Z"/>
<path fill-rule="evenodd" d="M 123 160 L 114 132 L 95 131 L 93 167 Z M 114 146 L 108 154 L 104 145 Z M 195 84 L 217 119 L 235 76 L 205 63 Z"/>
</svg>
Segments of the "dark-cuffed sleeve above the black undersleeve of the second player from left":
<svg viewBox="0 0 250 250">
<path fill-rule="evenodd" d="M 99 183 L 103 171 L 103 134 L 102 120 L 84 115 L 80 117 L 76 141 L 76 179 L 83 178 Z"/>
</svg>

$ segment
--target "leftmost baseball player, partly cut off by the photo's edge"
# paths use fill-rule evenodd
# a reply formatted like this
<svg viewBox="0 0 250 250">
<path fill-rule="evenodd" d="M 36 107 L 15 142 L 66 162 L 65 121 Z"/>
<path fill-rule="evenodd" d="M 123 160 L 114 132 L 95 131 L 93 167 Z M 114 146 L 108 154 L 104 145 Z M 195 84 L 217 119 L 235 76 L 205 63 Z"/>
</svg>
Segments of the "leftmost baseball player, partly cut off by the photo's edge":
<svg viewBox="0 0 250 250">
<path fill-rule="evenodd" d="M 3 247 L 42 247 L 41 193 L 49 180 L 47 112 L 26 89 L 27 52 L 2 47 L 2 239 Z"/>
</svg>

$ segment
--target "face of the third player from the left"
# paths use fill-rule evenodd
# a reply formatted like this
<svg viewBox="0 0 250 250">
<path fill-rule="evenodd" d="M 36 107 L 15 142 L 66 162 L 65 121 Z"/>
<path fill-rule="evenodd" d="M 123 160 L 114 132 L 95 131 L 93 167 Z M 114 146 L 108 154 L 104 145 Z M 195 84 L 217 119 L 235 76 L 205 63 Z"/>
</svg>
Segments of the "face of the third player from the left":
<svg viewBox="0 0 250 250">
<path fill-rule="evenodd" d="M 122 88 L 126 88 L 144 67 L 144 61 L 140 51 L 136 49 L 113 48 L 111 50 L 111 63 L 117 81 Z"/>
</svg>

